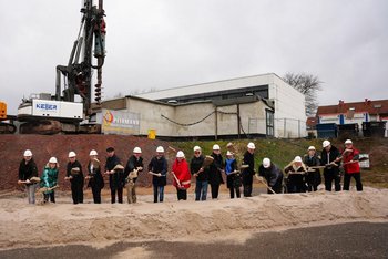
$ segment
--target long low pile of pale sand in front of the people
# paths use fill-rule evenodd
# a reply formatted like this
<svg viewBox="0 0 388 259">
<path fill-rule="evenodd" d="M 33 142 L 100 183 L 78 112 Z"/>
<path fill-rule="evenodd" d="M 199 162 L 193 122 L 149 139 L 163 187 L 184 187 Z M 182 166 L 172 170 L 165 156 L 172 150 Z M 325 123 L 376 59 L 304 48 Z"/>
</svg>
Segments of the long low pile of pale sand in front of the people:
<svg viewBox="0 0 388 259">
<path fill-rule="evenodd" d="M 190 197 L 192 198 L 192 197 Z M 0 248 L 119 240 L 190 239 L 208 241 L 231 235 L 283 230 L 347 221 L 388 221 L 388 189 L 363 193 L 259 195 L 231 200 L 153 204 L 50 204 L 30 206 L 23 198 L 0 199 Z M 69 200 L 69 198 L 67 198 Z"/>
</svg>

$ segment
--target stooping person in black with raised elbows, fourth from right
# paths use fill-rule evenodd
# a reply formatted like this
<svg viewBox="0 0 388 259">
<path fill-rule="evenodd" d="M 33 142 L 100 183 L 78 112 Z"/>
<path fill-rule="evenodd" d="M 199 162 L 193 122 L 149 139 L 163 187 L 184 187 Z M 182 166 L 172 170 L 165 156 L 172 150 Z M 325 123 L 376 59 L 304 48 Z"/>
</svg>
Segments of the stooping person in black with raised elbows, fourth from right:
<svg viewBox="0 0 388 259">
<path fill-rule="evenodd" d="M 307 168 L 302 162 L 300 156 L 296 156 L 285 168 L 287 174 L 288 193 L 306 193 L 306 173 Z"/>
</svg>

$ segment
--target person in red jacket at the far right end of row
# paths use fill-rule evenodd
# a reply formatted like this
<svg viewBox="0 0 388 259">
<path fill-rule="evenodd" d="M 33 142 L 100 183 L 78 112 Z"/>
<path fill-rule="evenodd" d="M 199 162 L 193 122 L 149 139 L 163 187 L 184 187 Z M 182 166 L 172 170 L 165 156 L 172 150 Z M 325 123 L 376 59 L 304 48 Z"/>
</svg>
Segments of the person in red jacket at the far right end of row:
<svg viewBox="0 0 388 259">
<path fill-rule="evenodd" d="M 359 167 L 359 151 L 353 146 L 353 142 L 347 139 L 345 142 L 345 152 L 343 153 L 344 162 L 344 190 L 349 190 L 351 177 L 356 180 L 357 191 L 363 190 L 361 173 Z"/>
</svg>

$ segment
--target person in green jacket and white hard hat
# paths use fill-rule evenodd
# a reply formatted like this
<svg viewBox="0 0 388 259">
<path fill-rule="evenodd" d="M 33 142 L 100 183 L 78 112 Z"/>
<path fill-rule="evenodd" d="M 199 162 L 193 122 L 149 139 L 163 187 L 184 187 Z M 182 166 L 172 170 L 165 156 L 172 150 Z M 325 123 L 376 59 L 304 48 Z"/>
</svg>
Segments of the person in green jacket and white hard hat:
<svg viewBox="0 0 388 259">
<path fill-rule="evenodd" d="M 49 198 L 51 203 L 55 203 L 55 191 L 58 183 L 58 160 L 55 157 L 51 157 L 49 163 L 43 169 L 43 174 L 40 177 L 40 187 L 43 189 L 43 203 L 48 203 Z"/>
</svg>

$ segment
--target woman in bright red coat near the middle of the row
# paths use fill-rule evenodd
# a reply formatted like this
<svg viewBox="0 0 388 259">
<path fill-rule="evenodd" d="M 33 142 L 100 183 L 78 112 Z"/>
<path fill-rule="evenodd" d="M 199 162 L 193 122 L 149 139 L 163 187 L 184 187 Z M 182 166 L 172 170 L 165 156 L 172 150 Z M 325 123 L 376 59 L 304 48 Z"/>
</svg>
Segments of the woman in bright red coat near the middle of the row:
<svg viewBox="0 0 388 259">
<path fill-rule="evenodd" d="M 190 174 L 188 164 L 182 151 L 176 153 L 176 159 L 173 164 L 172 174 L 174 176 L 173 185 L 176 188 L 177 200 L 186 200 L 192 175 Z"/>
</svg>

